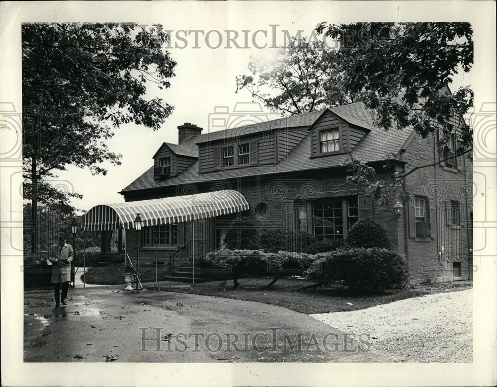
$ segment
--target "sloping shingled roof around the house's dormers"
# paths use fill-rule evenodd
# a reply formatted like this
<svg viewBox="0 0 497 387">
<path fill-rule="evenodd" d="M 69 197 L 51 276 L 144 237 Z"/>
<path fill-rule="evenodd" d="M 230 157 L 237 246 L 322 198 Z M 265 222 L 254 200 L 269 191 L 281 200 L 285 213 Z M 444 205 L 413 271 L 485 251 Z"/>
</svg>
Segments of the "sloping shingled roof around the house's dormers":
<svg viewBox="0 0 497 387">
<path fill-rule="evenodd" d="M 409 136 L 413 133 L 412 127 L 404 130 L 385 131 L 377 128 L 373 124 L 371 111 L 366 109 L 362 102 L 330 108 L 342 119 L 352 125 L 361 126 L 370 130 L 361 141 L 355 146 L 352 154 L 365 162 L 380 161 L 386 154 L 397 154 Z M 266 123 L 246 125 L 234 129 L 223 130 L 214 133 L 206 133 L 194 136 L 181 144 L 181 148 L 187 147 L 197 152 L 197 145 L 206 141 L 215 141 L 241 134 L 257 133 L 264 130 L 278 128 L 311 127 L 321 116 L 324 110 L 301 114 L 298 116 L 285 117 L 279 120 L 271 120 Z M 239 169 L 220 170 L 207 173 L 198 173 L 198 159 L 186 170 L 176 177 L 164 180 L 154 180 L 154 168 L 151 166 L 145 173 L 124 188 L 121 193 L 136 190 L 170 187 L 186 183 L 212 182 L 233 177 L 248 177 L 256 175 L 267 175 L 273 173 L 285 173 L 304 171 L 320 168 L 339 166 L 348 158 L 347 154 L 331 155 L 327 157 L 310 156 L 311 134 L 309 133 L 297 146 L 287 155 L 287 157 L 277 164 L 255 165 Z M 197 153 L 198 154 L 198 153 Z"/>
</svg>

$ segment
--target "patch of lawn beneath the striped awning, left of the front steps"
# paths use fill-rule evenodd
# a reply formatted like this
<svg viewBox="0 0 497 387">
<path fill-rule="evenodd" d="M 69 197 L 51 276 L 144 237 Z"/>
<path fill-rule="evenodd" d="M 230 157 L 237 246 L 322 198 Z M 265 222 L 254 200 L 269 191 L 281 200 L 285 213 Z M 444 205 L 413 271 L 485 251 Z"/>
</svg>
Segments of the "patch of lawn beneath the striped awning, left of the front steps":
<svg viewBox="0 0 497 387">
<path fill-rule="evenodd" d="M 92 267 L 86 272 L 86 278 L 81 276 L 83 282 L 96 285 L 124 284 L 122 275 L 123 263 L 112 263 L 106 266 Z M 155 266 L 140 266 L 140 281 L 153 282 L 156 280 Z M 167 274 L 167 265 L 157 265 L 157 279 L 163 281 Z"/>
</svg>

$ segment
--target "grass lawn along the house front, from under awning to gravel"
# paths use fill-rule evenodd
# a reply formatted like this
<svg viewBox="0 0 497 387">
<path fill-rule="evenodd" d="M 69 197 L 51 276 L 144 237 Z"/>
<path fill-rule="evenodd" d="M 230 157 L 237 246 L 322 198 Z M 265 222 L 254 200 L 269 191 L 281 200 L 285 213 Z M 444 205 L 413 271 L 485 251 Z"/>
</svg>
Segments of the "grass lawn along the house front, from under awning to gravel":
<svg viewBox="0 0 497 387">
<path fill-rule="evenodd" d="M 167 266 L 158 265 L 157 267 L 158 280 L 162 281 L 167 274 Z M 86 283 L 123 284 L 122 268 L 122 263 L 91 268 L 86 273 Z M 140 275 L 142 282 L 154 282 L 156 280 L 155 266 L 141 266 Z M 360 310 L 426 294 L 440 293 L 447 289 L 452 291 L 467 288 L 467 285 L 446 283 L 433 287 L 416 286 L 414 289 L 385 290 L 381 294 L 369 295 L 349 292 L 339 286 L 302 290 L 303 287 L 313 283 L 295 278 L 281 278 L 271 288 L 264 289 L 270 281 L 270 278 L 242 278 L 238 289 L 233 289 L 233 281 L 211 281 L 194 286 L 190 284 L 179 287 L 161 286 L 155 290 L 255 301 L 311 314 Z"/>
</svg>

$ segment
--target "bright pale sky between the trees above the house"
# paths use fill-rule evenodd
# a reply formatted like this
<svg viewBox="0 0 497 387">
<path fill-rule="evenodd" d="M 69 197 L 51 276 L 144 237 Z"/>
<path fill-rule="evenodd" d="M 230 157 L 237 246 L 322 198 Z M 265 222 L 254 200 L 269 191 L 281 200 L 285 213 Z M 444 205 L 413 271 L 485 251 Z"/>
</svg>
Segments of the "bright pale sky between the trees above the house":
<svg viewBox="0 0 497 387">
<path fill-rule="evenodd" d="M 206 11 L 209 12 L 209 9 Z M 316 25 L 324 19 L 335 23 L 348 21 L 323 16 L 319 8 L 312 7 L 306 14 L 286 10 L 281 17 L 274 13 L 258 14 L 250 9 L 244 17 L 232 15 L 236 23 L 230 22 L 229 14 L 216 13 L 212 8 L 210 11 L 210 14 L 186 11 L 177 17 L 165 12 L 157 16 L 154 22 L 161 23 L 166 30 L 172 31 L 169 52 L 177 62 L 176 77 L 171 78 L 171 87 L 166 90 L 159 90 L 153 83 L 149 83 L 146 96 L 163 98 L 175 106 L 174 111 L 161 129 L 155 132 L 134 124 L 115 129 L 114 137 L 105 143 L 110 152 L 122 155 L 122 164 L 102 163 L 108 170 L 105 176 L 91 175 L 88 170 L 71 165 L 66 171 L 58 172 L 59 177 L 52 184 L 63 190 L 83 194 L 81 200 L 72 199 L 72 204 L 77 209 L 87 211 L 98 204 L 123 202 L 124 199 L 118 192 L 153 165 L 152 156 L 163 142 L 177 143 L 178 125 L 190 122 L 202 127 L 202 133 L 208 133 L 214 130 L 209 126 L 209 121 L 218 108 L 227 108 L 228 112 L 233 112 L 237 103 L 240 107 L 240 103 L 251 102 L 247 91 L 235 92 L 235 78 L 248 74 L 247 65 L 251 55 L 272 57 L 275 51 L 272 47 L 284 42 L 283 31 L 289 31 L 288 34 L 292 36 L 302 31 L 302 36 L 309 38 Z M 237 8 L 237 12 L 243 13 L 243 7 Z M 227 30 L 237 32 L 226 32 Z M 243 32 L 244 30 L 247 32 Z M 260 31 L 256 32 L 258 30 Z M 234 37 L 236 33 L 239 36 L 235 41 L 229 42 L 228 38 Z M 222 45 L 216 48 L 220 35 Z M 240 48 L 236 47 L 235 42 Z M 451 88 L 469 84 L 471 73 L 459 74 L 454 78 Z M 247 108 L 247 105 L 244 106 Z M 259 114 L 259 119 L 279 116 L 261 108 L 265 114 Z M 224 113 L 224 116 L 228 114 Z M 217 128 L 219 129 L 222 128 Z"/>
</svg>

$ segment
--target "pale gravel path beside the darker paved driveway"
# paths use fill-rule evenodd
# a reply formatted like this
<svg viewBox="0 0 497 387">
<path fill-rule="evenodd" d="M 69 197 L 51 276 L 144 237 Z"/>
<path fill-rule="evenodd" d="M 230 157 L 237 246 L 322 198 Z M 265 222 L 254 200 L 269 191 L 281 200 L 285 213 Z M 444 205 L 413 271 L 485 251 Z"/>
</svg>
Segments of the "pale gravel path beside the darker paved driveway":
<svg viewBox="0 0 497 387">
<path fill-rule="evenodd" d="M 369 335 L 371 353 L 394 362 L 473 361 L 472 289 L 310 316 L 346 333 Z"/>
</svg>

